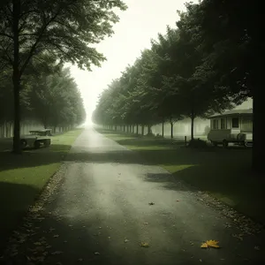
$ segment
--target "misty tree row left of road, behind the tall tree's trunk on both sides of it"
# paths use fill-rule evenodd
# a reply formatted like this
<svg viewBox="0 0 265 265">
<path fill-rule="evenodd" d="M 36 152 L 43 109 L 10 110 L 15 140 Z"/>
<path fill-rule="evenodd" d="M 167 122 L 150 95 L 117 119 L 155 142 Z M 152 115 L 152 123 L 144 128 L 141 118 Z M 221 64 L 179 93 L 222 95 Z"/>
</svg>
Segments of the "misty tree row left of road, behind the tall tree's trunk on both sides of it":
<svg viewBox="0 0 265 265">
<path fill-rule="evenodd" d="M 0 83 L 0 137 L 11 137 L 13 128 L 13 97 L 9 74 L 4 72 Z M 79 89 L 68 68 L 54 73 L 28 75 L 20 96 L 21 133 L 25 128 L 52 128 L 54 132 L 83 123 L 86 111 Z M 60 128 L 60 129 L 59 129 Z M 63 129 L 64 128 L 64 129 Z"/>
</svg>

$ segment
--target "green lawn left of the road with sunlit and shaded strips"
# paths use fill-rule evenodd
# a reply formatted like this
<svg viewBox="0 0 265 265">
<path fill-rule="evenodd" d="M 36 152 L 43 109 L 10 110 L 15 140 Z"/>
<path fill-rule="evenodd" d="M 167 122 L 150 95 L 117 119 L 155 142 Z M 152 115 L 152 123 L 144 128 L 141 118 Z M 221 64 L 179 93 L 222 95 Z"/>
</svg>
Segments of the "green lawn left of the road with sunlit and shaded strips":
<svg viewBox="0 0 265 265">
<path fill-rule="evenodd" d="M 0 249 L 3 239 L 58 170 L 81 132 L 82 129 L 76 129 L 53 136 L 49 148 L 26 150 L 22 155 L 4 151 L 11 148 L 11 140 L 0 140 Z"/>
</svg>

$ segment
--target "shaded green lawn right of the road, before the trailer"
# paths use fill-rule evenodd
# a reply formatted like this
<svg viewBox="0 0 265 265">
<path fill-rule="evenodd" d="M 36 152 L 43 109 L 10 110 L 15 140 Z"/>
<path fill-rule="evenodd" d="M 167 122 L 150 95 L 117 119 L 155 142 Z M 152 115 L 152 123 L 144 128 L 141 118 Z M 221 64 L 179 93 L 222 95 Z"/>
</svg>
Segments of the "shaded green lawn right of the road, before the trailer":
<svg viewBox="0 0 265 265">
<path fill-rule="evenodd" d="M 239 212 L 265 223 L 265 176 L 254 176 L 251 172 L 251 148 L 199 150 L 185 148 L 178 141 L 172 144 L 171 140 L 97 131 L 135 150 L 149 164 L 170 171 L 176 179 L 184 180 Z"/>
</svg>

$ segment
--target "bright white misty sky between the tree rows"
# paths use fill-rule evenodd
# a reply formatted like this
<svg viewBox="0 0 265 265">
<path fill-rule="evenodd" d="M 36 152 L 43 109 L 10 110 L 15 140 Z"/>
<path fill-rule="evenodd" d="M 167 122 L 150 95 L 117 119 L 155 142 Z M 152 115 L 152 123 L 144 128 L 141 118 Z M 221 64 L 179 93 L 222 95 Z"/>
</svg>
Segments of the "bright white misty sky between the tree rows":
<svg viewBox="0 0 265 265">
<path fill-rule="evenodd" d="M 119 11 L 120 21 L 114 26 L 115 34 L 98 45 L 108 61 L 101 68 L 93 67 L 93 72 L 81 71 L 72 66 L 75 78 L 83 95 L 87 117 L 90 120 L 98 95 L 120 77 L 127 64 L 133 64 L 140 50 L 150 48 L 150 39 L 164 34 L 166 26 L 175 27 L 177 10 L 185 10 L 185 0 L 125 0 L 126 11 Z M 197 1 L 193 1 L 196 3 Z"/>
</svg>

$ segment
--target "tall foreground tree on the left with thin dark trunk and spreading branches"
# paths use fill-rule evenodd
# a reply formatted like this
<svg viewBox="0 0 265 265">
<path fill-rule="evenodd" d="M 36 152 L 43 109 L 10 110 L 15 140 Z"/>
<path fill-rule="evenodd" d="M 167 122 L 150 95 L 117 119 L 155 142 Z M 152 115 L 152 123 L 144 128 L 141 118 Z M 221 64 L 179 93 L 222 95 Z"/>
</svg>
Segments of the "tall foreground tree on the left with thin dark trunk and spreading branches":
<svg viewBox="0 0 265 265">
<path fill-rule="evenodd" d="M 100 65 L 105 58 L 89 46 L 112 34 L 118 21 L 114 8 L 125 10 L 120 0 L 5 0 L 0 6 L 0 55 L 12 68 L 14 97 L 13 151 L 20 153 L 21 77 L 33 57 L 46 52 L 61 62 L 80 68 Z"/>
</svg>

